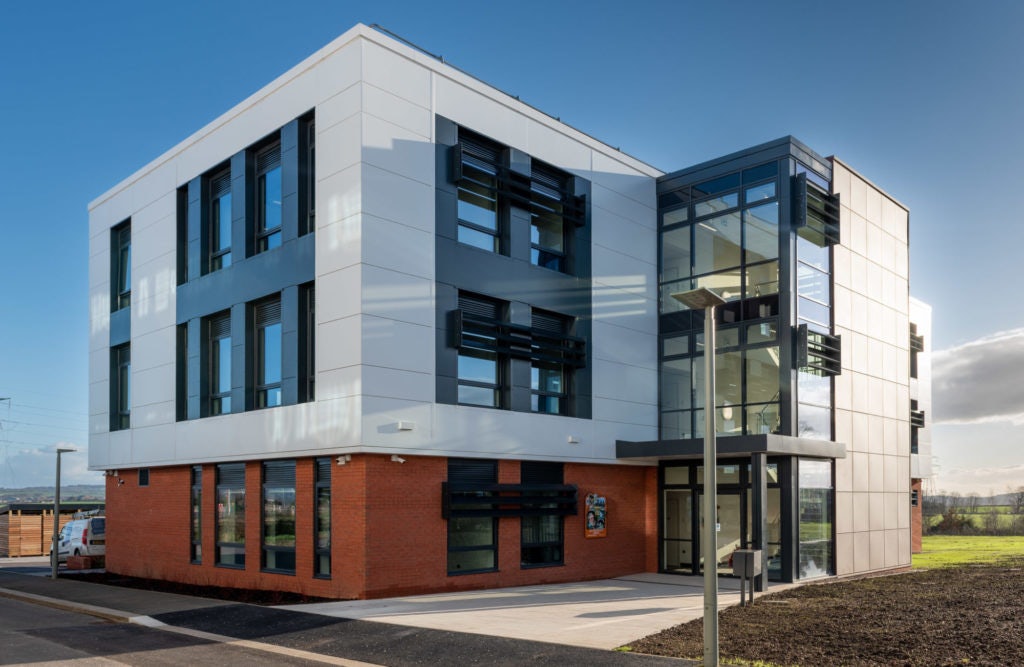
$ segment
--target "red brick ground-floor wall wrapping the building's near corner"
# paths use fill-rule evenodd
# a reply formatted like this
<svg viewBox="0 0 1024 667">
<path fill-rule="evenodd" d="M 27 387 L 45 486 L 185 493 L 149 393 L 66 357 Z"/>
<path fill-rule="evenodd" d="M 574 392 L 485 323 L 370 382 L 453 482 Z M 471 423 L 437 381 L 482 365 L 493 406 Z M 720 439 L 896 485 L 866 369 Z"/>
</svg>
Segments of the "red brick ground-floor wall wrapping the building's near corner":
<svg viewBox="0 0 1024 667">
<path fill-rule="evenodd" d="M 216 466 L 203 466 L 203 562 L 189 561 L 190 467 L 153 468 L 139 488 L 135 470 L 108 477 L 110 572 L 218 586 L 268 588 L 327 597 L 413 593 L 582 581 L 657 570 L 656 468 L 565 464 L 579 487 L 581 511 L 565 517 L 564 565 L 523 570 L 519 519 L 499 519 L 498 571 L 450 577 L 447 524 L 441 517 L 440 457 L 353 455 L 332 465 L 332 578 L 313 572 L 313 459 L 296 461 L 296 575 L 260 572 L 261 482 L 258 461 L 246 466 L 246 567 L 214 565 Z M 119 484 L 124 480 L 124 484 Z M 501 461 L 499 481 L 519 482 L 519 462 Z M 607 537 L 584 537 L 584 498 L 607 499 Z"/>
</svg>

